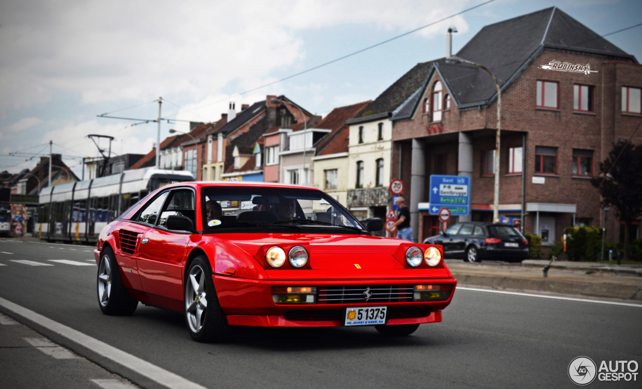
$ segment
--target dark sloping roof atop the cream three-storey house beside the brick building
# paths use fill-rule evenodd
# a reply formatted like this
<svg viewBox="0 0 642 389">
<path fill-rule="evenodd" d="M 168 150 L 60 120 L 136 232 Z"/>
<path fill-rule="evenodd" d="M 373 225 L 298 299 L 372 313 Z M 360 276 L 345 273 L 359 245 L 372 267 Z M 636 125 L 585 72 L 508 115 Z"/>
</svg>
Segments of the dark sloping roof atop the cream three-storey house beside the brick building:
<svg viewBox="0 0 642 389">
<path fill-rule="evenodd" d="M 390 87 L 370 103 L 361 115 L 363 117 L 377 113 L 394 112 L 426 80 L 428 72 L 435 61 L 417 63 L 406 74 L 397 79 Z"/>
</svg>

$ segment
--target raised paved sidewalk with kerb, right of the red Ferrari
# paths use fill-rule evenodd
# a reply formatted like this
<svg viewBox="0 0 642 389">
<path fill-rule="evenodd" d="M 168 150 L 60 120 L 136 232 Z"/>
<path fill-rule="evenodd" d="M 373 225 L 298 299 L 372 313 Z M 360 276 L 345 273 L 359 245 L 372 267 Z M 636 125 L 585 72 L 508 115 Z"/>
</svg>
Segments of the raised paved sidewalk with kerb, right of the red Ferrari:
<svg viewBox="0 0 642 389">
<path fill-rule="evenodd" d="M 548 277 L 544 277 L 542 270 L 549 262 L 465 263 L 446 260 L 446 266 L 459 286 L 625 299 L 642 303 L 642 267 L 553 261 Z"/>
</svg>

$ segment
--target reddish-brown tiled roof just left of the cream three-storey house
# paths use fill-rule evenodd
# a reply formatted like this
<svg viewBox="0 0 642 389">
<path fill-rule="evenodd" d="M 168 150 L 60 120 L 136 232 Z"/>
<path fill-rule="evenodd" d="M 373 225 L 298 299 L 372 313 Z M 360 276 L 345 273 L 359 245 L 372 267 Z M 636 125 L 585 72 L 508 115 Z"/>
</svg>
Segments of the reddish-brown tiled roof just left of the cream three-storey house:
<svg viewBox="0 0 642 389">
<path fill-rule="evenodd" d="M 358 116 L 370 103 L 372 103 L 372 101 L 369 100 L 334 108 L 334 110 L 328 113 L 323 120 L 318 122 L 315 128 L 331 129 L 332 131 L 325 135 L 325 137 L 318 140 L 315 144 L 317 155 L 343 153 L 344 151 L 348 151 L 347 140 L 343 142 L 342 139 L 338 139 L 338 136 L 343 133 L 343 129 L 347 128 L 345 121 Z M 344 144 L 345 147 L 343 147 Z M 335 149 L 340 149 L 340 151 L 334 151 Z"/>
</svg>

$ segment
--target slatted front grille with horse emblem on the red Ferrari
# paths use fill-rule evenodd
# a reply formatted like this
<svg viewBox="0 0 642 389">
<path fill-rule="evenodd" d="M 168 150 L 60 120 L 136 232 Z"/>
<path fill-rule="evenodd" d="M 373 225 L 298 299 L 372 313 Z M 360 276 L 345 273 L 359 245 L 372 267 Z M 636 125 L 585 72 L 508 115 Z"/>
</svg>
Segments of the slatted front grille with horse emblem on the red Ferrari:
<svg viewBox="0 0 642 389">
<path fill-rule="evenodd" d="M 319 286 L 317 301 L 319 304 L 403 302 L 412 301 L 412 294 L 412 285 Z"/>
</svg>

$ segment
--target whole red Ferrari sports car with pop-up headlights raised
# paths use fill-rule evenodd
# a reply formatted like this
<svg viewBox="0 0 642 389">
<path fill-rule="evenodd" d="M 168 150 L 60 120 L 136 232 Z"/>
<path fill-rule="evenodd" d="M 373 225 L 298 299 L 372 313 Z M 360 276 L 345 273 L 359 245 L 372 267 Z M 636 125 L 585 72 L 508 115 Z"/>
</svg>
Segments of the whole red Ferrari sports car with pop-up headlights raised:
<svg viewBox="0 0 642 389">
<path fill-rule="evenodd" d="M 439 245 L 370 235 L 324 192 L 270 183 L 164 186 L 100 233 L 98 302 L 183 312 L 197 341 L 229 326 L 374 326 L 408 335 L 440 322 L 456 279 Z"/>
</svg>

